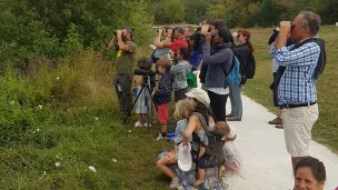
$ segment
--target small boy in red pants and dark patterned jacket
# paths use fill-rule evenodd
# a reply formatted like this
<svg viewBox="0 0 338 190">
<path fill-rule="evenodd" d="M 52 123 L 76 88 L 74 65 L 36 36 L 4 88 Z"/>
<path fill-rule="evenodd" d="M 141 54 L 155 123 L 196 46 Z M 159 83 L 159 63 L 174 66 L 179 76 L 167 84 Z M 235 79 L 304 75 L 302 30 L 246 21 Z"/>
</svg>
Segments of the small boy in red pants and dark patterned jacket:
<svg viewBox="0 0 338 190">
<path fill-rule="evenodd" d="M 169 73 L 171 64 L 167 58 L 160 58 L 157 64 L 158 72 L 161 76 L 158 89 L 152 92 L 153 102 L 158 106 L 158 118 L 161 124 L 161 133 L 157 140 L 166 140 L 169 102 L 171 101 L 172 76 Z"/>
</svg>

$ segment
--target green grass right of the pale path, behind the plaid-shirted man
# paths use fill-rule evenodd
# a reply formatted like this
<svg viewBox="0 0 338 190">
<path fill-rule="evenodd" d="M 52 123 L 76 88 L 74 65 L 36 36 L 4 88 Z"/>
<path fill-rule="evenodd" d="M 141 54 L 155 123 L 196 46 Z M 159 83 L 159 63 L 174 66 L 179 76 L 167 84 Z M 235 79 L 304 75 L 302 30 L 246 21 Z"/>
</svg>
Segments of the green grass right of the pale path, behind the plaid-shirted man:
<svg viewBox="0 0 338 190">
<path fill-rule="evenodd" d="M 272 94 L 268 88 L 272 80 L 271 59 L 269 58 L 268 38 L 272 29 L 250 29 L 251 41 L 255 46 L 255 58 L 257 61 L 257 72 L 254 80 L 249 80 L 243 93 L 261 103 L 270 111 L 276 112 L 272 107 Z M 336 110 L 338 101 L 338 27 L 324 26 L 319 36 L 326 41 L 327 66 L 317 82 L 319 119 L 314 126 L 314 140 L 326 144 L 332 151 L 338 151 L 338 120 Z M 272 118 L 271 118 L 272 119 Z M 268 120 L 268 119 L 267 119 Z"/>
</svg>

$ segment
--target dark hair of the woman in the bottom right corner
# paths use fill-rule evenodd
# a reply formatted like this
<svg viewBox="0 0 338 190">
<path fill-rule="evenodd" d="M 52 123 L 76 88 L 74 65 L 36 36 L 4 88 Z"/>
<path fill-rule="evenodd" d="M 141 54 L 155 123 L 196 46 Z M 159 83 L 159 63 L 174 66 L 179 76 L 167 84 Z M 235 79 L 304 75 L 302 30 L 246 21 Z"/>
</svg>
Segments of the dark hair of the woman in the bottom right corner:
<svg viewBox="0 0 338 190">
<path fill-rule="evenodd" d="M 295 167 L 295 177 L 299 168 L 309 168 L 311 169 L 314 178 L 320 182 L 326 180 L 325 166 L 321 161 L 312 157 L 306 157 L 301 159 Z"/>
</svg>

